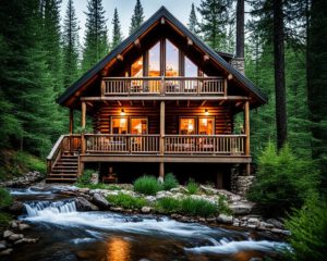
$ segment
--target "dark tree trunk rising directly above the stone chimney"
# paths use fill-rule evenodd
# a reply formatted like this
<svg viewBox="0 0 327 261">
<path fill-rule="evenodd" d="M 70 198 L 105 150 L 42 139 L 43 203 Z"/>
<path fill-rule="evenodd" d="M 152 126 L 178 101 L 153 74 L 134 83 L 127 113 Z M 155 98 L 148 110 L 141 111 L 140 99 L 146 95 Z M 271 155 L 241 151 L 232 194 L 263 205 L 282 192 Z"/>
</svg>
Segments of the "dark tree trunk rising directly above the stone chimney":
<svg viewBox="0 0 327 261">
<path fill-rule="evenodd" d="M 244 0 L 237 3 L 237 58 L 244 58 Z"/>
</svg>

